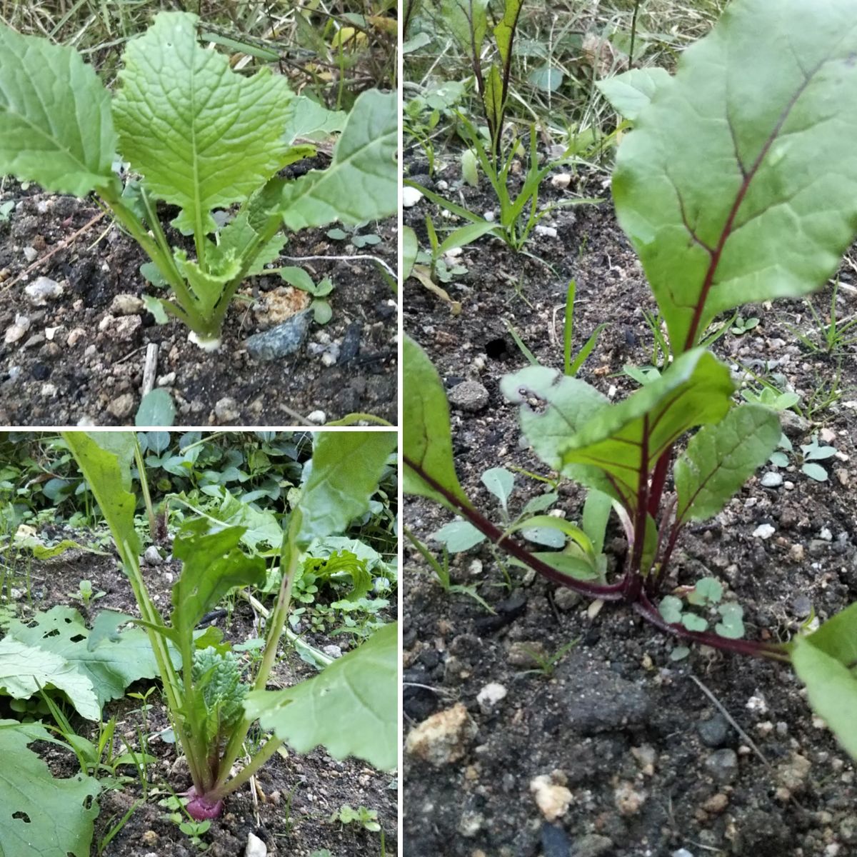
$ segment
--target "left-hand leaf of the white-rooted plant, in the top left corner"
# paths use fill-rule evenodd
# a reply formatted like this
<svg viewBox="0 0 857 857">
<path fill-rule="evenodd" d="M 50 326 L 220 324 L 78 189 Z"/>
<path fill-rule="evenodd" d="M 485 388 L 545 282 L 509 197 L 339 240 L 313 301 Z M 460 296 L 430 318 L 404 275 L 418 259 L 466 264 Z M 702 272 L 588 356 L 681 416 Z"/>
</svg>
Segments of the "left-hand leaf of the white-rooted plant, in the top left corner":
<svg viewBox="0 0 857 857">
<path fill-rule="evenodd" d="M 0 24 L 0 175 L 84 196 L 115 180 L 110 94 L 74 48 Z"/>
</svg>

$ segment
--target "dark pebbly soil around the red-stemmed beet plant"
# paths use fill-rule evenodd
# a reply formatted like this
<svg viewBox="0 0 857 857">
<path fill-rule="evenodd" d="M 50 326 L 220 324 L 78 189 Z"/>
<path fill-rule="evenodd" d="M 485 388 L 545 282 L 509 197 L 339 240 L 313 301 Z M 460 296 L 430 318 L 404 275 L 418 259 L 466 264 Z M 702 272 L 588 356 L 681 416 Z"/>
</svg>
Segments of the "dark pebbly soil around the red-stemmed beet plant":
<svg viewBox="0 0 857 857">
<path fill-rule="evenodd" d="M 461 201 L 458 167 L 428 177 L 416 153 L 406 164 L 417 182 L 434 189 L 443 179 L 447 197 Z M 493 207 L 479 190 L 461 193 L 476 212 Z M 500 378 L 527 364 L 506 321 L 540 363 L 561 369 L 566 285 L 574 278 L 574 351 L 608 322 L 579 377 L 619 400 L 636 387 L 621 375 L 623 365 L 651 362 L 642 310 L 656 307 L 615 222 L 606 177 L 575 174 L 567 190 L 548 177 L 542 200 L 572 193 L 603 201 L 548 214 L 542 225 L 557 236 L 534 237 L 530 255 L 513 255 L 494 239 L 464 249 L 457 261 L 468 273 L 446 285 L 462 305 L 459 315 L 415 280 L 405 285 L 405 331 L 428 351 L 447 392 L 464 380 L 487 391 L 486 405 L 470 405 L 476 411 L 452 406 L 453 452 L 465 491 L 496 521 L 484 470 L 548 475 L 519 444 L 516 412 L 500 394 Z M 443 222 L 426 200 L 405 209 L 421 246 L 428 212 Z M 854 258 L 852 249 L 840 271 L 842 321 L 857 312 Z M 819 315 L 829 312 L 831 288 L 812 298 Z M 776 468 L 762 468 L 721 514 L 687 532 L 671 582 L 718 578 L 744 607 L 747 638 L 786 640 L 811 608 L 824 620 L 857 598 L 857 367 L 853 345 L 817 355 L 788 331 L 812 331 L 802 301 L 745 307 L 742 315 L 761 323 L 742 336 L 727 333 L 714 350 L 757 373 L 767 363 L 801 393 L 803 406 L 838 391 L 809 420 L 783 417 L 796 450 L 818 433 L 836 457 L 824 462 L 827 482 L 804 476 L 792 457 L 779 471 L 782 484 L 764 488 L 760 477 Z M 512 517 L 543 489 L 520 474 L 516 486 Z M 561 483 L 558 506 L 567 518 L 579 519 L 582 499 Z M 428 541 L 450 515 L 411 500 L 405 519 Z M 762 524 L 772 535 L 754 535 Z M 605 549 L 614 574 L 626 553 L 620 536 L 611 524 Z M 440 553 L 437 542 L 429 546 Z M 630 610 L 605 604 L 590 612 L 569 590 L 504 569 L 484 545 L 452 558 L 452 582 L 475 585 L 494 615 L 467 596 L 445 595 L 416 552 L 406 552 L 405 569 L 405 734 L 443 710 L 464 723 L 442 764 L 405 754 L 409 857 L 857 854 L 854 763 L 813 718 L 787 665 L 698 648 L 673 661 L 674 640 Z M 552 674 L 528 672 L 536 668 L 532 650 L 553 656 L 572 641 Z M 477 700 L 492 684 L 502 686 L 488 693 L 495 701 Z M 536 806 L 531 782 L 539 776 L 543 792 L 568 800 L 553 820 Z"/>
</svg>

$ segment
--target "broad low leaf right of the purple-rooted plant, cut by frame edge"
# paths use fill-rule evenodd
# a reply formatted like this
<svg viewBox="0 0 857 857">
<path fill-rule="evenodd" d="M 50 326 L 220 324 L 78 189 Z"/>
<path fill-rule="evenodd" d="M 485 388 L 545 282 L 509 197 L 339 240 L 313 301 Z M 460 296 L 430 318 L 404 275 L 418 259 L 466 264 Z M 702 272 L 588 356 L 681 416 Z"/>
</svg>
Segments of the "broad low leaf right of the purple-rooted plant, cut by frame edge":
<svg viewBox="0 0 857 857">
<path fill-rule="evenodd" d="M 248 694 L 244 709 L 297 752 L 320 744 L 381 770 L 398 758 L 398 623 L 382 627 L 321 674 L 285 691 Z"/>
</svg>

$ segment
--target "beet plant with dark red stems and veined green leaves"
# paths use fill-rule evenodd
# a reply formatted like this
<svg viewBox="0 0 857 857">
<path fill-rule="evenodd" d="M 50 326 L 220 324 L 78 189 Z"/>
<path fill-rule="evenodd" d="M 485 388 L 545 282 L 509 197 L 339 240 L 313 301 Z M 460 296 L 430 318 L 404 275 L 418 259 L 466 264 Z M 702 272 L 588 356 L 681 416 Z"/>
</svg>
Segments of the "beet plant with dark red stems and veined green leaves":
<svg viewBox="0 0 857 857">
<path fill-rule="evenodd" d="M 443 387 L 411 340 L 405 490 L 440 502 L 554 582 L 623 602 L 684 642 L 790 660 L 813 708 L 857 757 L 857 605 L 789 643 L 744 639 L 740 605 L 720 603 L 710 580 L 676 587 L 672 566 L 686 527 L 720 512 L 781 436 L 775 411 L 735 403 L 728 366 L 699 345 L 706 328 L 744 303 L 818 289 L 857 232 L 854 4 L 734 0 L 674 75 L 632 71 L 605 91 L 632 116 L 614 204 L 666 321 L 672 362 L 618 404 L 541 366 L 506 376 L 501 389 L 544 464 L 612 499 L 629 546 L 623 573 L 607 581 L 584 564 L 560 570 L 473 506 L 455 473 Z M 693 606 L 715 603 L 710 629 Z"/>
</svg>

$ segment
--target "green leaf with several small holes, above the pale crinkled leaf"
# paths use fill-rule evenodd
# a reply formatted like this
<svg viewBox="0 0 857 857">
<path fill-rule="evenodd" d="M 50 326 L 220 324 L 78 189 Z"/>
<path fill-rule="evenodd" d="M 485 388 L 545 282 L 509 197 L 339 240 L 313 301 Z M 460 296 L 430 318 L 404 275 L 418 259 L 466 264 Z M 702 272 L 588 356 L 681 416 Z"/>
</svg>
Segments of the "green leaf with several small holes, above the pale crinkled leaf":
<svg viewBox="0 0 857 857">
<path fill-rule="evenodd" d="M 158 674 L 146 632 L 130 628 L 115 633 L 124 619 L 122 614 L 103 610 L 91 636 L 74 608 L 57 605 L 26 624 L 13 621 L 9 638 L 62 657 L 91 682 L 101 706 L 120 698 L 133 681 L 153 679 Z"/>
</svg>

